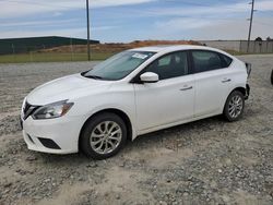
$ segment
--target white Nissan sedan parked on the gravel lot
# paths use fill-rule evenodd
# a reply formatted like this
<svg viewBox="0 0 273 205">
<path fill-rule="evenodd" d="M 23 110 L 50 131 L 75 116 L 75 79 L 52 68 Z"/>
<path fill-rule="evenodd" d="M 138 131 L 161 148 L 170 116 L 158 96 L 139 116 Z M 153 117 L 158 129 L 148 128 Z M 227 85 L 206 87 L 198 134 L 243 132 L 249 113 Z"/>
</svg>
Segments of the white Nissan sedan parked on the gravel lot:
<svg viewBox="0 0 273 205">
<path fill-rule="evenodd" d="M 209 47 L 127 50 L 35 88 L 23 102 L 23 136 L 32 150 L 104 159 L 138 135 L 217 114 L 238 120 L 249 73 Z"/>
</svg>

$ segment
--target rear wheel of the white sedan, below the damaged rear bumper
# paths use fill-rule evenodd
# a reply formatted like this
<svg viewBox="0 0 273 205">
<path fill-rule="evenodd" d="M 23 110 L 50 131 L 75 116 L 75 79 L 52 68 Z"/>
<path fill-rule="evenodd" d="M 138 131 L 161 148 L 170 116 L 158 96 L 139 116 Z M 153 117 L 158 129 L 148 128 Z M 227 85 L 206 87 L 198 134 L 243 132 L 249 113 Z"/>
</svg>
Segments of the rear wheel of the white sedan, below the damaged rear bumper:
<svg viewBox="0 0 273 205">
<path fill-rule="evenodd" d="M 223 114 L 229 122 L 237 121 L 241 118 L 245 109 L 245 97 L 241 92 L 234 91 L 226 100 Z"/>
</svg>

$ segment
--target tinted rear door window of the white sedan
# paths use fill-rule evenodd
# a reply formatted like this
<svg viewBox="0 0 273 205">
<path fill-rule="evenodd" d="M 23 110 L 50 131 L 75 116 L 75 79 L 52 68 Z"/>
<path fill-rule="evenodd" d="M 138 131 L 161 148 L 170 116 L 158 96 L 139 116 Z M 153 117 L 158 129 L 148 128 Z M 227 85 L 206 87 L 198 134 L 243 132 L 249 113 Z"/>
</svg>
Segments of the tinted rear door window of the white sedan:
<svg viewBox="0 0 273 205">
<path fill-rule="evenodd" d="M 195 72 L 205 72 L 224 68 L 222 59 L 217 52 L 192 51 Z"/>
</svg>

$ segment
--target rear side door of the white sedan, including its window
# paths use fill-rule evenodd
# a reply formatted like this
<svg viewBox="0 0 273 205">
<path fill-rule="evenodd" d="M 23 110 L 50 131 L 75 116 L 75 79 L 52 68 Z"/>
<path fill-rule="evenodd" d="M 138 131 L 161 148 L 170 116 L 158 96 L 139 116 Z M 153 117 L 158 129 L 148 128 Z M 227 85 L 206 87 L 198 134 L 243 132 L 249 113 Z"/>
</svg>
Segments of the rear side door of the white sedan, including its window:
<svg viewBox="0 0 273 205">
<path fill-rule="evenodd" d="M 232 62 L 228 64 L 222 53 L 209 50 L 192 50 L 191 55 L 195 80 L 194 117 L 221 113 L 232 82 L 228 69 Z"/>
</svg>

